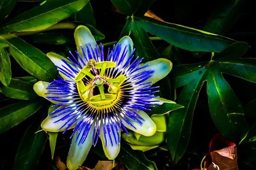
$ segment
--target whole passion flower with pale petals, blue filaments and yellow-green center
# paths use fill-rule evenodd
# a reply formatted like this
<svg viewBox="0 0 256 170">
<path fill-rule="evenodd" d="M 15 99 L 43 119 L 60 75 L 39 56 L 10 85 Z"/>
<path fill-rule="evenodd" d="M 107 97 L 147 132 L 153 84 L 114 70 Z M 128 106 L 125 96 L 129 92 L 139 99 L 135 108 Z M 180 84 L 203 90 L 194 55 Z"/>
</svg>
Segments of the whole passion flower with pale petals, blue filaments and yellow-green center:
<svg viewBox="0 0 256 170">
<path fill-rule="evenodd" d="M 133 43 L 124 36 L 104 54 L 87 27 L 74 32 L 76 57 L 47 53 L 60 77 L 51 83 L 38 81 L 35 92 L 54 103 L 54 111 L 42 122 L 47 132 L 73 129 L 67 157 L 69 169 L 77 169 L 86 159 L 92 145 L 102 141 L 104 153 L 113 160 L 120 151 L 121 131 L 128 129 L 152 136 L 156 124 L 145 111 L 165 99 L 156 97 L 154 83 L 172 69 L 172 62 L 157 59 L 141 64 L 134 57 Z M 164 101 L 165 102 L 165 101 Z"/>
</svg>

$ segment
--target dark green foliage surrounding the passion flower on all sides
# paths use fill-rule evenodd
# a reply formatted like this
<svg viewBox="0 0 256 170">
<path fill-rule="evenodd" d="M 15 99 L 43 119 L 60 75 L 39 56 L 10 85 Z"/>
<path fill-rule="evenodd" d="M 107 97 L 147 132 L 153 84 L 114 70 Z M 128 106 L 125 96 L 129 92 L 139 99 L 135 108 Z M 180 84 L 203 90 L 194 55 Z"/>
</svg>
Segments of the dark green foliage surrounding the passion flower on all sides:
<svg viewBox="0 0 256 170">
<path fill-rule="evenodd" d="M 56 169 L 51 154 L 67 156 L 68 132 L 58 139 L 50 134 L 51 146 L 45 145 L 47 135 L 40 131 L 40 122 L 49 103 L 36 96 L 33 84 L 58 76 L 45 53 L 74 52 L 73 33 L 81 24 L 104 46 L 111 48 L 116 39 L 128 35 L 135 54 L 144 61 L 164 57 L 173 62 L 171 74 L 157 84 L 159 96 L 177 105 L 163 104 L 148 112 L 168 114 L 163 122 L 166 141 L 140 152 L 123 140 L 118 162 L 127 169 L 200 167 L 211 138 L 220 132 L 237 144 L 239 169 L 255 169 L 252 4 L 249 0 L 0 0 L 0 169 Z M 60 145 L 54 151 L 56 143 Z M 106 159 L 99 147 L 90 152 L 84 166 Z"/>
</svg>

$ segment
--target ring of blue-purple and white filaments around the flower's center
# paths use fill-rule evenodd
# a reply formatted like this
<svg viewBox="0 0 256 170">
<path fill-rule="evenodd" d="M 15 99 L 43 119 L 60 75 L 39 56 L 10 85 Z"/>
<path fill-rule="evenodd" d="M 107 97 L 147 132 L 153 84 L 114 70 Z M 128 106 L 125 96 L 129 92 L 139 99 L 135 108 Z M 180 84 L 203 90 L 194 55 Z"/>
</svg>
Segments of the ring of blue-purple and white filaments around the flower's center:
<svg viewBox="0 0 256 170">
<path fill-rule="evenodd" d="M 143 118 L 137 113 L 138 110 L 150 110 L 156 104 L 154 94 L 158 92 L 158 87 L 152 87 L 152 82 L 147 81 L 152 77 L 154 71 L 143 70 L 147 67 L 140 66 L 142 59 L 133 57 L 134 50 L 127 57 L 127 48 L 122 50 L 121 44 L 113 46 L 111 52 L 104 56 L 103 46 L 100 48 L 95 45 L 86 45 L 81 47 L 83 56 L 76 52 L 77 58 L 70 53 L 68 60 L 62 59 L 63 66 L 58 67 L 58 71 L 67 78 L 59 78 L 52 81 L 47 87 L 47 99 L 55 101 L 54 107 L 58 108 L 50 113 L 52 118 L 57 118 L 56 123 L 64 121 L 60 127 L 67 129 L 74 127 L 73 134 L 76 142 L 83 144 L 90 131 L 93 131 L 93 145 L 96 145 L 100 133 L 103 134 L 105 145 L 113 146 L 114 143 L 120 143 L 120 131 L 124 130 L 125 124 L 134 127 L 133 122 L 143 124 Z M 105 77 L 116 78 L 120 74 L 124 74 L 126 80 L 120 89 L 122 94 L 118 98 L 118 102 L 111 108 L 97 110 L 90 107 L 81 99 L 77 89 L 77 82 L 73 81 L 76 75 L 89 60 L 96 62 L 111 61 L 116 63 L 116 67 L 107 68 L 104 73 Z M 93 72 L 92 72 L 93 73 Z M 84 78 L 83 82 L 88 83 L 90 78 Z M 134 127 L 135 128 L 135 127 Z M 102 132 L 101 132 L 102 131 Z M 127 132 L 128 133 L 128 132 Z"/>
</svg>

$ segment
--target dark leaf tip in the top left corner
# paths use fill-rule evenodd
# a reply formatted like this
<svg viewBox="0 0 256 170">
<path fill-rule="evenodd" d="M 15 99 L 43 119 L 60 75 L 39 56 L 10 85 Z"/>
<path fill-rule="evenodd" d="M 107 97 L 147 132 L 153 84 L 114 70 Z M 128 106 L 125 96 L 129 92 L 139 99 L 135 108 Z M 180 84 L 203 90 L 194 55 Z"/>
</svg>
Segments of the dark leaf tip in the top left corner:
<svg viewBox="0 0 256 170">
<path fill-rule="evenodd" d="M 0 1 L 0 22 L 2 22 L 13 10 L 17 0 L 1 0 Z"/>
</svg>

